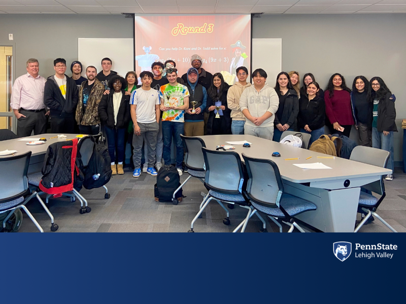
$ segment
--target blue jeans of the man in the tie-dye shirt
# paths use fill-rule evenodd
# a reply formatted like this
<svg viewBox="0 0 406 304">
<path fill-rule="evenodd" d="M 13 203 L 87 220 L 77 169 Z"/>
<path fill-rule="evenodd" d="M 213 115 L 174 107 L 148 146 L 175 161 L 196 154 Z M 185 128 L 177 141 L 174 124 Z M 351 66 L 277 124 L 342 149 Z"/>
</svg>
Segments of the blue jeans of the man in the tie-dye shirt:
<svg viewBox="0 0 406 304">
<path fill-rule="evenodd" d="M 176 168 L 182 169 L 183 163 L 183 143 L 180 135 L 183 135 L 184 123 L 178 122 L 162 122 L 162 137 L 163 137 L 163 160 L 165 165 L 171 165 L 171 144 L 172 135 L 175 138 L 176 146 Z"/>
</svg>

